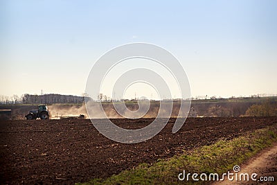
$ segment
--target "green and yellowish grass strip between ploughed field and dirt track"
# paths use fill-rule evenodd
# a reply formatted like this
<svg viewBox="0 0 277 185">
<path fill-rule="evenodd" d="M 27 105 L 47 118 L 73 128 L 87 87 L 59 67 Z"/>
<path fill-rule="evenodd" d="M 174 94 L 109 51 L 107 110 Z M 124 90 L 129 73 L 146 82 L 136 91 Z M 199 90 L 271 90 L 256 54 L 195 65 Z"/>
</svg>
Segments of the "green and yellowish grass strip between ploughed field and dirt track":
<svg viewBox="0 0 277 185">
<path fill-rule="evenodd" d="M 233 166 L 253 157 L 260 150 L 277 141 L 277 126 L 266 127 L 232 140 L 220 140 L 211 146 L 184 151 L 170 159 L 159 159 L 155 164 L 140 164 L 134 169 L 124 170 L 107 179 L 91 179 L 87 184 L 207 184 L 199 181 L 179 181 L 178 175 L 186 173 L 217 173 L 222 175 Z M 198 177 L 199 178 L 199 177 Z"/>
</svg>

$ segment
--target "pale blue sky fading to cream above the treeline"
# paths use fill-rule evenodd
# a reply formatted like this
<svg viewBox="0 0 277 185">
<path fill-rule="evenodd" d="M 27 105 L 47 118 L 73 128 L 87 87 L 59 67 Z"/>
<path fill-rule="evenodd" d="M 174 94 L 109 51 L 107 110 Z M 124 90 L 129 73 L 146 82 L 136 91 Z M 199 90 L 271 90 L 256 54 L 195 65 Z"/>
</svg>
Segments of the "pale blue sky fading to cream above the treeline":
<svg viewBox="0 0 277 185">
<path fill-rule="evenodd" d="M 192 96 L 277 94 L 276 7 L 255 0 L 0 1 L 0 94 L 80 96 L 98 58 L 133 42 L 175 55 Z M 129 87 L 126 98 L 156 98 L 145 84 Z"/>
</svg>

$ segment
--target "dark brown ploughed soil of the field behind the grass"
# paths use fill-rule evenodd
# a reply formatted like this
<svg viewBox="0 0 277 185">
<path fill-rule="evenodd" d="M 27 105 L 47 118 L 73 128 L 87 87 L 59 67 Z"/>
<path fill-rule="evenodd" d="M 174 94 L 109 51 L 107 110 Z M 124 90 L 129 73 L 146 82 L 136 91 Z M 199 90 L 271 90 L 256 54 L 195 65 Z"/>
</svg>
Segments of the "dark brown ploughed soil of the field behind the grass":
<svg viewBox="0 0 277 185">
<path fill-rule="evenodd" d="M 151 123 L 112 119 L 120 127 Z M 99 120 L 100 121 L 100 120 Z M 168 125 L 152 139 L 136 144 L 116 143 L 102 136 L 89 120 L 30 120 L 0 122 L 0 184 L 74 184 L 109 177 L 141 163 L 152 164 L 219 139 L 277 123 L 277 117 L 188 118 L 172 134 Z"/>
</svg>

